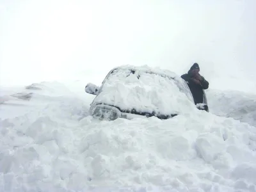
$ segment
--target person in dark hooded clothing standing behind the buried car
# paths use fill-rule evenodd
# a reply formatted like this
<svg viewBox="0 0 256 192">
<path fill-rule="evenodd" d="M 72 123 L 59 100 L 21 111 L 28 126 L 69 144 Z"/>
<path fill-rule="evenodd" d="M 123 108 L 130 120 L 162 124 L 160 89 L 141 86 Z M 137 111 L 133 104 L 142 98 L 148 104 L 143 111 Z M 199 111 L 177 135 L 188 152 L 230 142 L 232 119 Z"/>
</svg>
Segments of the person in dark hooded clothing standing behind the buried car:
<svg viewBox="0 0 256 192">
<path fill-rule="evenodd" d="M 193 95 L 195 104 L 204 102 L 204 92 L 209 88 L 209 82 L 205 80 L 203 76 L 199 74 L 200 67 L 198 63 L 194 63 L 188 71 L 188 74 L 183 74 L 182 79 L 186 81 L 189 89 Z M 208 108 L 208 106 L 207 106 Z M 207 109 L 205 109 L 207 111 Z"/>
</svg>

